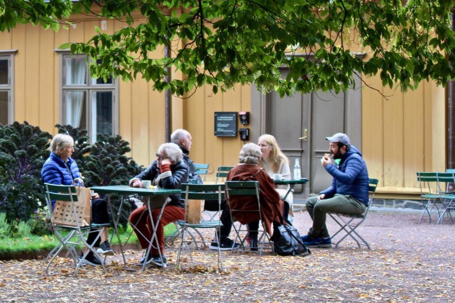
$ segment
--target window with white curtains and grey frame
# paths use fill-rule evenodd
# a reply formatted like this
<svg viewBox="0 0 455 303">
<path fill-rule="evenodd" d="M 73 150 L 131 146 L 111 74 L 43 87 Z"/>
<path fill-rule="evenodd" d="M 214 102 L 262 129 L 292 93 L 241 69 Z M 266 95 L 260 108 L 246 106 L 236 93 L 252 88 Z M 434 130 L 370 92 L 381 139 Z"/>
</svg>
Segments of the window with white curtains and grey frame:
<svg viewBox="0 0 455 303">
<path fill-rule="evenodd" d="M 118 133 L 118 91 L 112 77 L 104 81 L 89 76 L 84 55 L 62 55 L 62 120 L 87 129 L 91 143 L 97 134 Z"/>
</svg>

